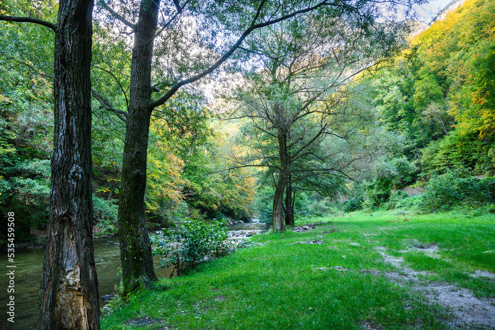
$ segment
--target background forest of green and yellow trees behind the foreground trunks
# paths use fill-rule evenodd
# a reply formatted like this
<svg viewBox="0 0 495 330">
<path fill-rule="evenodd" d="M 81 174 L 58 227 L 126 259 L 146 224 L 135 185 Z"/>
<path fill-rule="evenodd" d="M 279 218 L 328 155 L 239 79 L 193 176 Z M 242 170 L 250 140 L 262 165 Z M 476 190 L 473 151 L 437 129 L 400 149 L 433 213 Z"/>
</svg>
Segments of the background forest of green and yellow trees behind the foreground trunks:
<svg viewBox="0 0 495 330">
<path fill-rule="evenodd" d="M 56 14 L 55 3 L 16 8 L 21 9 L 45 19 Z M 269 105 L 268 95 L 273 93 L 279 93 L 277 97 L 284 102 L 306 106 L 306 101 L 311 107 L 304 109 L 306 112 L 282 114 L 288 119 L 298 117 L 290 127 L 292 136 L 287 138 L 287 143 L 293 143 L 293 153 L 306 140 L 315 139 L 304 150 L 306 155 L 291 159 L 292 179 L 283 185 L 283 189 L 290 189 L 286 190 L 296 208 L 296 218 L 323 215 L 339 208 L 360 208 L 364 199 L 371 199 L 379 207 L 388 201 L 393 189 L 422 187 L 432 176 L 449 170 L 493 176 L 495 27 L 493 16 L 483 14 L 491 12 L 490 1 L 467 1 L 447 19 L 412 38 L 408 45 L 401 45 L 399 53 L 393 53 L 396 49 L 381 49 L 390 54 L 368 49 L 371 55 L 365 60 L 372 64 L 368 72 L 356 74 L 353 70 L 362 68 L 348 64 L 349 72 L 341 81 L 321 76 L 328 71 L 314 73 L 322 65 L 318 59 L 294 69 L 294 78 L 284 69 L 294 66 L 291 62 L 299 58 L 330 51 L 310 47 L 331 39 L 334 43 L 344 42 L 350 36 L 323 35 L 321 30 L 300 36 L 292 31 L 297 26 L 291 24 L 301 24 L 297 21 L 281 23 L 278 31 L 256 36 L 249 45 L 254 55 L 252 67 L 242 68 L 246 58 L 234 58 L 229 63 L 231 67 L 225 68 L 224 77 L 216 78 L 217 85 L 221 85 L 228 82 L 227 75 L 231 74 L 231 79 L 245 82 L 244 87 L 238 86 L 229 94 L 225 90 L 213 92 L 211 88 L 206 91 L 204 84 L 184 88 L 150 118 L 145 193 L 148 228 L 161 228 L 181 217 L 246 220 L 257 216 L 271 222 L 276 171 L 280 167 L 272 164 L 278 153 L 273 127 L 279 119 L 270 114 L 263 117 L 262 112 Z M 103 19 L 94 23 L 91 152 L 97 236 L 117 233 L 131 64 L 131 46 L 114 27 L 117 23 Z M 14 210 L 20 216 L 16 237 L 29 241 L 36 239 L 30 230 L 44 230 L 48 222 L 53 36 L 34 24 L 5 22 L 1 33 L 0 198 L 2 209 Z M 283 34 L 288 35 L 287 44 L 277 41 Z M 308 45 L 304 38 L 316 35 L 321 39 Z M 34 40 L 38 42 L 31 42 Z M 277 48 L 271 49 L 276 42 Z M 292 49 L 286 58 L 267 62 L 287 52 L 287 47 Z M 168 49 L 155 51 L 170 53 Z M 176 59 L 169 59 L 171 63 L 153 64 L 153 81 L 161 77 L 171 81 L 161 83 L 163 87 L 159 87 L 164 90 L 169 88 L 167 84 L 180 79 L 174 75 L 202 69 L 193 64 L 203 54 L 192 54 L 188 61 L 183 59 L 186 54 L 175 55 Z M 342 54 L 341 67 L 337 69 L 337 63 L 324 63 L 325 70 L 342 76 L 343 72 L 337 70 L 343 70 L 343 61 L 355 61 L 352 56 L 355 54 Z M 383 61 L 380 68 L 376 67 L 377 60 Z M 293 81 L 284 86 L 289 79 Z M 281 85 L 276 90 L 260 89 L 274 81 Z M 301 84 L 314 86 L 312 90 L 297 91 L 297 99 L 289 98 L 296 97 L 296 88 Z M 338 91 L 337 96 L 330 95 L 334 91 Z M 217 96 L 212 96 L 214 93 Z M 216 101 L 212 102 L 212 97 Z M 309 103 L 311 98 L 315 101 Z M 330 103 L 321 104 L 324 98 Z M 366 107 L 359 107 L 363 104 Z M 328 112 L 330 107 L 333 113 Z M 322 116 L 328 117 L 326 127 L 315 126 L 312 132 L 303 126 Z M 306 137 L 301 138 L 301 134 Z M 375 149 L 371 150 L 371 146 Z M 344 153 L 352 155 L 336 160 L 335 155 Z M 339 205 L 342 196 L 350 200 Z M 284 203 L 286 198 L 283 196 Z"/>
</svg>

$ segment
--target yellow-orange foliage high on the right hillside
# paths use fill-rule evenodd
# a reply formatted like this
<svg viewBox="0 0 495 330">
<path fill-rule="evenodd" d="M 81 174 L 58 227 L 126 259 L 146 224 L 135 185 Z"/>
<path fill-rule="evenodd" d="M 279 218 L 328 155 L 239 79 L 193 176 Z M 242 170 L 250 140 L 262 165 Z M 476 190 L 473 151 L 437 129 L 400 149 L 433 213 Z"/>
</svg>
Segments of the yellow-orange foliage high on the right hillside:
<svg viewBox="0 0 495 330">
<path fill-rule="evenodd" d="M 466 0 L 416 36 L 425 70 L 448 82 L 450 115 L 462 133 L 495 133 L 495 0 Z"/>
</svg>

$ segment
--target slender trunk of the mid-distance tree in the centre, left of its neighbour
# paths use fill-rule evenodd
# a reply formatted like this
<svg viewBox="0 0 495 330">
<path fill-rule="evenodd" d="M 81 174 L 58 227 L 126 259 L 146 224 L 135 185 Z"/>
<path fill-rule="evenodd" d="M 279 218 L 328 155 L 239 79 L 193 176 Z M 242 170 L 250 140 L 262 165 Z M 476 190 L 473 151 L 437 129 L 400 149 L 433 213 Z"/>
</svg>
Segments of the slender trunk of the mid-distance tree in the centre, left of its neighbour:
<svg viewBox="0 0 495 330">
<path fill-rule="evenodd" d="M 272 228 L 275 232 L 285 232 L 284 225 L 284 191 L 289 176 L 289 152 L 287 150 L 287 134 L 282 129 L 278 129 L 278 143 L 280 156 L 280 170 L 275 195 L 273 196 L 273 216 Z"/>
</svg>

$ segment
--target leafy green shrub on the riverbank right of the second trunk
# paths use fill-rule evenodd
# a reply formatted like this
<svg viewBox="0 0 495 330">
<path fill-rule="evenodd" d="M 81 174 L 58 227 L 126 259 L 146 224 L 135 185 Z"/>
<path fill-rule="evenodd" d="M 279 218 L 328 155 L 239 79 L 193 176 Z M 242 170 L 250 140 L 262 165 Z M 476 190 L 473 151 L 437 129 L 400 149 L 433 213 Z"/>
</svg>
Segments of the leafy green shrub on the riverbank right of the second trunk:
<svg viewBox="0 0 495 330">
<path fill-rule="evenodd" d="M 174 266 L 177 275 L 193 268 L 204 257 L 219 253 L 232 242 L 222 221 L 207 224 L 202 220 L 184 218 L 175 228 L 165 228 L 150 235 L 157 246 L 153 255 L 161 255 L 161 267 Z"/>
</svg>

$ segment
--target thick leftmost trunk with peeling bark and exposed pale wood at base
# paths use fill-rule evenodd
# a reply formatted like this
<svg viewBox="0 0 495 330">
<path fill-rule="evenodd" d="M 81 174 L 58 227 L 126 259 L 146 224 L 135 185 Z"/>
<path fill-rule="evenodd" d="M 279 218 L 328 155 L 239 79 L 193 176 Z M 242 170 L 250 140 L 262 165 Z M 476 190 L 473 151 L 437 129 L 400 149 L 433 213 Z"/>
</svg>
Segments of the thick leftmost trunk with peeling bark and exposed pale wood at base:
<svg viewBox="0 0 495 330">
<path fill-rule="evenodd" d="M 40 329 L 99 329 L 91 188 L 92 0 L 60 0 Z"/>
</svg>

